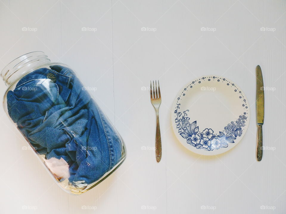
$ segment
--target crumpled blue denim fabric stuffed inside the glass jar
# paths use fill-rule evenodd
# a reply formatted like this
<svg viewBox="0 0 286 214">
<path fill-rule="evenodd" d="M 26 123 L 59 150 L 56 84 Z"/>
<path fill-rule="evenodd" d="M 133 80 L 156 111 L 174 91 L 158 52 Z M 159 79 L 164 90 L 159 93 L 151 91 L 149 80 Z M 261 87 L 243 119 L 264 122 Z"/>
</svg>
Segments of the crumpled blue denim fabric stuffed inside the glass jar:
<svg viewBox="0 0 286 214">
<path fill-rule="evenodd" d="M 25 75 L 7 93 L 7 107 L 39 154 L 69 164 L 69 182 L 93 183 L 122 158 L 119 134 L 67 67 Z"/>
</svg>

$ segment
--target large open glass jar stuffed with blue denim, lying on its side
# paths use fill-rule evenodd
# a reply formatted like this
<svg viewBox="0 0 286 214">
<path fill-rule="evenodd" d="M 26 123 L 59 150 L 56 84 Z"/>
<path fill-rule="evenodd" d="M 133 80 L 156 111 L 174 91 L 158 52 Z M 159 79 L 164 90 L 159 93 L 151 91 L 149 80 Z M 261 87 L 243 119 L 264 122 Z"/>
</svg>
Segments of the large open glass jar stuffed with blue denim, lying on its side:
<svg viewBox="0 0 286 214">
<path fill-rule="evenodd" d="M 69 66 L 36 51 L 1 76 L 5 112 L 63 190 L 84 193 L 125 160 L 121 136 Z"/>
</svg>

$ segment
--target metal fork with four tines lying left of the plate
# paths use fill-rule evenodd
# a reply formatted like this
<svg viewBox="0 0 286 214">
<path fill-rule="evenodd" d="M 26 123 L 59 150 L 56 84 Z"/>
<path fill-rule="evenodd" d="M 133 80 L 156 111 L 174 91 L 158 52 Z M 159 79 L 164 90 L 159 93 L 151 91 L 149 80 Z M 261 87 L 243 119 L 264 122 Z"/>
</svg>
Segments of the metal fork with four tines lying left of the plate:
<svg viewBox="0 0 286 214">
<path fill-rule="evenodd" d="M 154 80 L 153 80 L 153 87 L 152 87 L 152 82 L 150 81 L 151 103 L 156 110 L 156 118 L 157 118 L 155 153 L 156 153 L 156 161 L 160 162 L 162 157 L 162 144 L 161 144 L 160 123 L 159 123 L 159 107 L 161 105 L 159 80 L 158 80 L 158 89 L 157 89 L 157 81 L 155 81 L 155 84 L 156 87 L 154 86 Z"/>
</svg>

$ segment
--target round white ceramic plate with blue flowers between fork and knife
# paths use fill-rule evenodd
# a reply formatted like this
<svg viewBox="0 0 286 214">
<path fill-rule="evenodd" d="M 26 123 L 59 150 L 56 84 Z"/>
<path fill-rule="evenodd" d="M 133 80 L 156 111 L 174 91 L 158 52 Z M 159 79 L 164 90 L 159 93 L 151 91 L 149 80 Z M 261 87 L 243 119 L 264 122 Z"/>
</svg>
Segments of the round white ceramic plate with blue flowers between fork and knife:
<svg viewBox="0 0 286 214">
<path fill-rule="evenodd" d="M 172 123 L 178 140 L 201 155 L 233 148 L 249 124 L 249 103 L 239 86 L 217 76 L 186 84 L 173 103 Z"/>
</svg>

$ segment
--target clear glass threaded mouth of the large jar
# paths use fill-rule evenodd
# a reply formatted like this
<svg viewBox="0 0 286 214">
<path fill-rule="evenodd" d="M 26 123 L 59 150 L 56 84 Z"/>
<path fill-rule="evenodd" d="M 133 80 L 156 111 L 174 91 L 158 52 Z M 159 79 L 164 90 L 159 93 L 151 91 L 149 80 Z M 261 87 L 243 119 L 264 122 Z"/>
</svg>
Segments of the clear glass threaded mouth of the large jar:
<svg viewBox="0 0 286 214">
<path fill-rule="evenodd" d="M 1 71 L 1 77 L 6 85 L 28 73 L 32 68 L 49 63 L 48 56 L 43 51 L 33 51 L 8 63 Z"/>
</svg>

